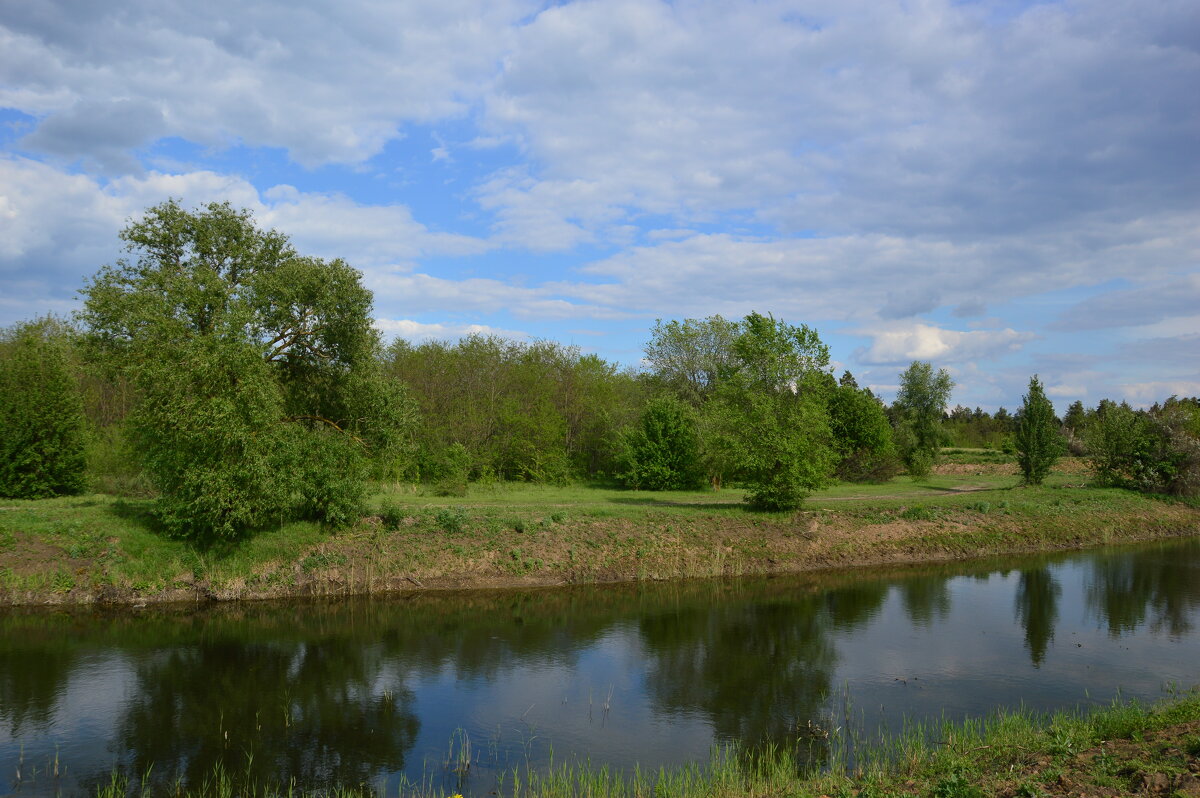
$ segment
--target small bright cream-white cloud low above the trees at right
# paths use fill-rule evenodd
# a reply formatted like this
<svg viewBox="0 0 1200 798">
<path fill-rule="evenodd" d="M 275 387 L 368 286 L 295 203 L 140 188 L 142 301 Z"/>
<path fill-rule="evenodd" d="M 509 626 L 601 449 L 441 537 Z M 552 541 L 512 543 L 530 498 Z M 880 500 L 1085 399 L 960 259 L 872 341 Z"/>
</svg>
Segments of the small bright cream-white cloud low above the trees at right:
<svg viewBox="0 0 1200 798">
<path fill-rule="evenodd" d="M 865 364 L 986 360 L 1018 352 L 1034 338 L 1032 332 L 1012 329 L 960 332 L 919 323 L 864 329 L 859 332 L 872 338 L 870 347 L 854 353 Z"/>
</svg>

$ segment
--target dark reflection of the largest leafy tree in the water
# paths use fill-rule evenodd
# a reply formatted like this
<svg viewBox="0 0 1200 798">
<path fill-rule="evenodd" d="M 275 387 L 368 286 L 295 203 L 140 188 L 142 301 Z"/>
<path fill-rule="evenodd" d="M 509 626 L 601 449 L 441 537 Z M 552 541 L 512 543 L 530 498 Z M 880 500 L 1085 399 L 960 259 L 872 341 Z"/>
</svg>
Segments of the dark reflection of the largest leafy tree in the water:
<svg viewBox="0 0 1200 798">
<path fill-rule="evenodd" d="M 356 785 L 403 769 L 419 720 L 362 641 L 205 641 L 142 660 L 118 724 L 131 775 Z"/>
</svg>

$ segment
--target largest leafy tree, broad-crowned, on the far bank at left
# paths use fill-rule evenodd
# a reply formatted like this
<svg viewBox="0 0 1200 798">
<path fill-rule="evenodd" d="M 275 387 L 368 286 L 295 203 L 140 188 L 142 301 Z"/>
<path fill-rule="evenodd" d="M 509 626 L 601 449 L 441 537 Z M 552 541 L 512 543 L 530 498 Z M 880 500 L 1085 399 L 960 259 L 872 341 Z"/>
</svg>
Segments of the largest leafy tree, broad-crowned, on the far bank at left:
<svg viewBox="0 0 1200 798">
<path fill-rule="evenodd" d="M 160 515 L 228 538 L 288 517 L 344 523 L 413 410 L 379 368 L 370 292 L 248 211 L 172 200 L 121 232 L 85 287 L 92 354 L 138 391 L 134 439 Z"/>
</svg>

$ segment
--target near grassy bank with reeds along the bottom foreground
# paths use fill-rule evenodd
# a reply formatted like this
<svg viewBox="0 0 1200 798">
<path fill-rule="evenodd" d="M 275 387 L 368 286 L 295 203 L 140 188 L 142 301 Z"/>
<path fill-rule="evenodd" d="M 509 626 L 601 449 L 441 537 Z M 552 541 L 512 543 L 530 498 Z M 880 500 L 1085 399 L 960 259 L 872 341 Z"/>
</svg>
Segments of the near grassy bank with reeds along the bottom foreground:
<svg viewBox="0 0 1200 798">
<path fill-rule="evenodd" d="M 880 743 L 852 750 L 844 733 L 821 737 L 809 730 L 797 746 L 828 746 L 820 769 L 798 764 L 791 751 L 761 755 L 726 750 L 703 766 L 620 774 L 588 764 L 514 770 L 499 794 L 514 798 L 983 798 L 1003 796 L 1198 796 L 1200 794 L 1200 694 L 1156 706 L 1114 704 L 1078 712 L 1034 715 L 997 712 L 978 721 L 913 727 Z M 818 739 L 814 740 L 812 734 Z M 148 794 L 136 780 L 114 775 L 98 788 L 101 798 Z M 378 793 L 354 786 L 307 791 L 240 784 L 215 770 L 203 784 L 172 794 L 191 798 L 232 796 L 344 796 Z M 389 794 L 442 798 L 443 790 L 407 785 Z"/>
</svg>

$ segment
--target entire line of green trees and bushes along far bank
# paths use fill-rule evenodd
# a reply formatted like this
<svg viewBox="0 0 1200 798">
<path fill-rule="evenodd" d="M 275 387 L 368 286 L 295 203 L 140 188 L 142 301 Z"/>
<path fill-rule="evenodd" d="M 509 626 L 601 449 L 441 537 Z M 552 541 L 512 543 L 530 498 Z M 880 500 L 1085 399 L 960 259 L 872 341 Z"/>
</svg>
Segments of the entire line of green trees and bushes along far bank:
<svg viewBox="0 0 1200 798">
<path fill-rule="evenodd" d="M 632 370 L 552 341 L 385 347 L 344 262 L 298 253 L 248 211 L 150 208 L 71 320 L 0 332 L 0 494 L 155 497 L 169 533 L 227 539 L 289 520 L 350 523 L 371 480 L 605 481 L 720 490 L 786 510 L 833 480 L 923 478 L 948 444 L 1013 451 L 1038 484 L 1067 448 L 1099 479 L 1194 493 L 1200 402 L 1076 402 L 1038 378 L 1022 407 L 947 410 L 913 362 L 888 407 L 808 325 L 658 322 Z"/>
</svg>

